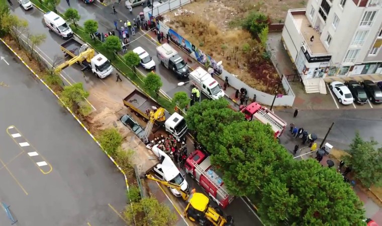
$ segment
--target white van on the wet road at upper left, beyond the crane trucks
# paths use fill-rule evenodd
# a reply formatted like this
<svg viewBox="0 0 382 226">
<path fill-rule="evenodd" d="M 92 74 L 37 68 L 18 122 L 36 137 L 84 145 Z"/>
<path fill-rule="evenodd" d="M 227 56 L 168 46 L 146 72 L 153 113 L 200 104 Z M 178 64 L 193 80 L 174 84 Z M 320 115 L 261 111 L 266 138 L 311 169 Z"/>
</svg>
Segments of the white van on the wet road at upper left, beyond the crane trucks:
<svg viewBox="0 0 382 226">
<path fill-rule="evenodd" d="M 54 12 L 48 12 L 44 14 L 45 25 L 50 31 L 54 31 L 57 35 L 63 39 L 67 39 L 73 36 L 73 31 L 62 17 L 58 16 Z"/>
</svg>

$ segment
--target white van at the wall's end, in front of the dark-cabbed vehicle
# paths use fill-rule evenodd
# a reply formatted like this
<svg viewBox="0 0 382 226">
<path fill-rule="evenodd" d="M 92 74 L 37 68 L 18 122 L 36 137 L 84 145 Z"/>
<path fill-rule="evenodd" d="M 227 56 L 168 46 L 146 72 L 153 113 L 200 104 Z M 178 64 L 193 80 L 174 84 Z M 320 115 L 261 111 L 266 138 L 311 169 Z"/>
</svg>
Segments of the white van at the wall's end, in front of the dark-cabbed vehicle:
<svg viewBox="0 0 382 226">
<path fill-rule="evenodd" d="M 189 77 L 192 79 L 192 83 L 197 87 L 200 87 L 202 83 L 202 92 L 211 99 L 216 100 L 220 97 L 224 97 L 225 93 L 219 82 L 202 67 L 198 67 L 190 72 Z"/>
</svg>

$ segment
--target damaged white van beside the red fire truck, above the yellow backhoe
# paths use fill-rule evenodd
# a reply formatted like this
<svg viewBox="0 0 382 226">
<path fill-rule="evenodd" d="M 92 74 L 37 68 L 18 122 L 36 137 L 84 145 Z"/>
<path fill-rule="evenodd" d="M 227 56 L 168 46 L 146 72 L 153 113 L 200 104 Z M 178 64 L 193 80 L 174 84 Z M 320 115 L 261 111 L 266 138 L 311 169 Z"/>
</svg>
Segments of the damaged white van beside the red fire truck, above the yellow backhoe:
<svg viewBox="0 0 382 226">
<path fill-rule="evenodd" d="M 178 184 L 183 191 L 187 192 L 188 183 L 178 168 L 175 166 L 171 158 L 162 150 L 160 150 L 158 145 L 152 147 L 151 151 L 159 158 L 159 163 L 153 168 L 155 175 L 161 180 Z M 177 197 L 181 196 L 181 194 L 176 189 L 170 188 L 170 190 L 173 195 Z"/>
</svg>

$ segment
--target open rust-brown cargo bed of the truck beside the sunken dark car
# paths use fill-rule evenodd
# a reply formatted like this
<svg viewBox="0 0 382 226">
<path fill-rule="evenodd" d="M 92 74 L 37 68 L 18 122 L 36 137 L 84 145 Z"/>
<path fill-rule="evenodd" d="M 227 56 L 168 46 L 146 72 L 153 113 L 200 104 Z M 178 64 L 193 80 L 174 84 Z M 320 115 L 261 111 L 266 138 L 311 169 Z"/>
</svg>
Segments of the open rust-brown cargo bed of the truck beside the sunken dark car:
<svg viewBox="0 0 382 226">
<path fill-rule="evenodd" d="M 123 103 L 125 106 L 132 108 L 135 112 L 137 112 L 142 117 L 149 119 L 146 115 L 146 110 L 150 109 L 151 106 L 161 107 L 157 102 L 155 102 L 150 97 L 146 96 L 142 92 L 134 89 L 128 96 L 123 99 Z M 166 110 L 164 112 L 166 119 L 170 117 L 169 112 Z"/>
</svg>

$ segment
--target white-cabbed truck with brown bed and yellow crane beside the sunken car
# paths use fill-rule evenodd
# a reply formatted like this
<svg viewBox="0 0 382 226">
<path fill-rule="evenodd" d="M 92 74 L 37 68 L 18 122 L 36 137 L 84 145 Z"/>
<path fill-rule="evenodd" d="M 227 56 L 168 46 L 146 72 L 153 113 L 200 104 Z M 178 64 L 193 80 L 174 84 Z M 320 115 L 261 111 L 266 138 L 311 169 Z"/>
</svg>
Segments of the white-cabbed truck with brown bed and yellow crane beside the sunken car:
<svg viewBox="0 0 382 226">
<path fill-rule="evenodd" d="M 184 118 L 174 112 L 170 114 L 166 109 L 160 106 L 155 100 L 135 89 L 123 99 L 126 107 L 134 111 L 137 117 L 147 122 L 145 128 L 146 139 L 151 133 L 153 125 L 164 126 L 166 132 L 174 136 L 175 139 L 182 138 L 187 133 L 187 124 Z M 145 141 L 147 142 L 147 140 Z"/>
</svg>

